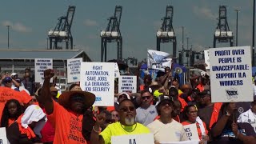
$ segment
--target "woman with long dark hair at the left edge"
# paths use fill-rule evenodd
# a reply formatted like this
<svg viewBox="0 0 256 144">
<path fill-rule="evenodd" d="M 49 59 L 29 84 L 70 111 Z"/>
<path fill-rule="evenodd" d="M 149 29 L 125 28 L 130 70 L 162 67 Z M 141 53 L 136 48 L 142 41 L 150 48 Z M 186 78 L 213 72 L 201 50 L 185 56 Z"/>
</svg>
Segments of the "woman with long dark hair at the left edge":
<svg viewBox="0 0 256 144">
<path fill-rule="evenodd" d="M 16 99 L 10 99 L 6 102 L 2 110 L 1 126 L 9 127 L 23 113 L 22 106 Z"/>
</svg>

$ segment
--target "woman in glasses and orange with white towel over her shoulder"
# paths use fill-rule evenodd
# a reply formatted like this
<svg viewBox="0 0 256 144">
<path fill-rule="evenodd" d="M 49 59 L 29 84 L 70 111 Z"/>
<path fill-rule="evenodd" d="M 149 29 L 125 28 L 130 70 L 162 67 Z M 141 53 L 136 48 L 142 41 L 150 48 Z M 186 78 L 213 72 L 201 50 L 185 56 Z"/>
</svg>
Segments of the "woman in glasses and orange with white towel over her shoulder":
<svg viewBox="0 0 256 144">
<path fill-rule="evenodd" d="M 195 105 L 186 106 L 183 111 L 184 122 L 183 126 L 195 123 L 198 129 L 198 137 L 202 141 L 208 141 L 208 131 L 206 130 L 206 123 L 198 117 L 198 109 Z"/>
</svg>

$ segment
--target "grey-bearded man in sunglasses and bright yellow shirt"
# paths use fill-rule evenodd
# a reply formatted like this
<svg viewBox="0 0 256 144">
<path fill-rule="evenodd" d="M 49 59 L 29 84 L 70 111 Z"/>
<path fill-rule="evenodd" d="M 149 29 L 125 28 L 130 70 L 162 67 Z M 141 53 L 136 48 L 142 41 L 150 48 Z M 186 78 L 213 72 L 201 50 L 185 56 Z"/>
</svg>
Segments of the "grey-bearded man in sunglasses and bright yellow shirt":
<svg viewBox="0 0 256 144">
<path fill-rule="evenodd" d="M 110 144 L 112 136 L 124 134 L 149 134 L 150 130 L 142 124 L 135 122 L 136 109 L 129 99 L 124 99 L 119 104 L 118 114 L 120 122 L 114 122 L 101 132 L 100 127 L 105 123 L 104 115 L 97 115 L 96 124 L 90 134 L 91 144 Z"/>
</svg>

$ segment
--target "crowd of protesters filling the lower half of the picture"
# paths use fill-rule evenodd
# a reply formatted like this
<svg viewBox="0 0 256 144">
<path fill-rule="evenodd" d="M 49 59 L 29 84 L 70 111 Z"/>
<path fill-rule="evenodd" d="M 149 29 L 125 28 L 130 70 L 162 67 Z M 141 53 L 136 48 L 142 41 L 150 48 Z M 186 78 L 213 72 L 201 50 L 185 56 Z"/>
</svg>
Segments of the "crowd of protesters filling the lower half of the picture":
<svg viewBox="0 0 256 144">
<path fill-rule="evenodd" d="M 22 78 L 2 75 L 0 124 L 10 144 L 109 144 L 113 136 L 150 133 L 155 143 L 180 142 L 189 140 L 184 126 L 190 124 L 202 144 L 256 143 L 256 96 L 253 102 L 211 102 L 207 74 L 191 75 L 181 86 L 166 67 L 155 79 L 146 75 L 138 93 L 118 93 L 115 81 L 114 106 L 93 106 L 95 95 L 79 83 L 61 94 L 50 78 L 54 72 L 45 70 L 38 86 L 30 69 Z"/>
</svg>

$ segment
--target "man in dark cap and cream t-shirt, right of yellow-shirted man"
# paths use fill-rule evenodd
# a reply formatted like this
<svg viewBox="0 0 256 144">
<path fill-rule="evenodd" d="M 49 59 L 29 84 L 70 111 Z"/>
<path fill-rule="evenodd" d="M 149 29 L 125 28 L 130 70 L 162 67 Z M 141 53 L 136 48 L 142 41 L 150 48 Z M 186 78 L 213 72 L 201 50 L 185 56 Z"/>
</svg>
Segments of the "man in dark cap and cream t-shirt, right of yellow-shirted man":
<svg viewBox="0 0 256 144">
<path fill-rule="evenodd" d="M 147 126 L 154 134 L 155 143 L 188 140 L 182 124 L 172 118 L 174 102 L 169 96 L 162 95 L 159 97 L 157 110 L 160 118 Z"/>
</svg>

